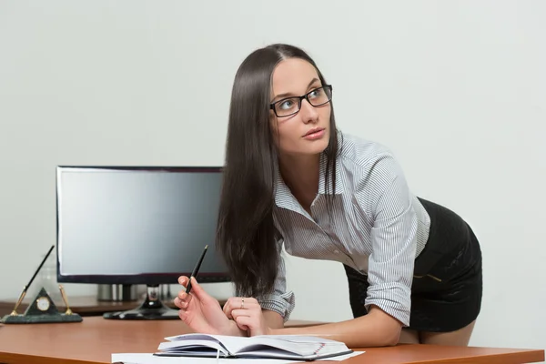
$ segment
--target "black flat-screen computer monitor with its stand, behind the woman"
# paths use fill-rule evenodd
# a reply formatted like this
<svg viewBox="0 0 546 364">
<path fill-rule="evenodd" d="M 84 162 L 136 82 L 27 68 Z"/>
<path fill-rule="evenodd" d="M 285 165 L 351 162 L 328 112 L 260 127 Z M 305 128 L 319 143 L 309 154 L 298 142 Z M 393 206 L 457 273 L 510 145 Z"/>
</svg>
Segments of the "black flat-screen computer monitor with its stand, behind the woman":
<svg viewBox="0 0 546 364">
<path fill-rule="evenodd" d="M 221 167 L 56 167 L 57 281 L 147 285 L 136 309 L 106 319 L 177 319 L 158 285 L 228 282 L 215 248 Z"/>
</svg>

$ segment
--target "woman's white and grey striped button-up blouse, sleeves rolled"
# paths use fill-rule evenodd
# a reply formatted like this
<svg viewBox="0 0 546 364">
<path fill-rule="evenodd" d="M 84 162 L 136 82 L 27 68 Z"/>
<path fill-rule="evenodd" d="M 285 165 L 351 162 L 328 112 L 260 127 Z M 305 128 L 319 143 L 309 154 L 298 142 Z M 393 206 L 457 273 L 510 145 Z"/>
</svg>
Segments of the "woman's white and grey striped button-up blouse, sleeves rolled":
<svg viewBox="0 0 546 364">
<path fill-rule="evenodd" d="M 273 217 L 283 237 L 279 244 L 293 256 L 335 260 L 367 274 L 366 308 L 376 305 L 408 326 L 414 259 L 429 237 L 430 217 L 388 148 L 341 132 L 339 146 L 331 223 L 326 158 L 320 159 L 319 194 L 310 215 L 277 173 Z M 295 297 L 286 289 L 282 258 L 275 292 L 258 301 L 288 319 Z"/>
</svg>

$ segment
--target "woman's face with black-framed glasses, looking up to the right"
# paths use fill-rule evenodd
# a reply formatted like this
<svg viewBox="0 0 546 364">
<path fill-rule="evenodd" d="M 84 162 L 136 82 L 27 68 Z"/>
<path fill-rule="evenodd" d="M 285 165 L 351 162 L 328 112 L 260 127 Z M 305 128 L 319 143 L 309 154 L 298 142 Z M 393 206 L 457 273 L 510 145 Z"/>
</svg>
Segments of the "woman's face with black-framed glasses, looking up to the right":
<svg viewBox="0 0 546 364">
<path fill-rule="evenodd" d="M 322 86 L 315 67 L 303 59 L 285 59 L 273 72 L 270 101 L 275 110 L 269 113 L 281 155 L 316 155 L 328 147 L 331 93 Z M 298 109 L 298 98 L 290 97 L 304 95 L 308 99 Z"/>
</svg>

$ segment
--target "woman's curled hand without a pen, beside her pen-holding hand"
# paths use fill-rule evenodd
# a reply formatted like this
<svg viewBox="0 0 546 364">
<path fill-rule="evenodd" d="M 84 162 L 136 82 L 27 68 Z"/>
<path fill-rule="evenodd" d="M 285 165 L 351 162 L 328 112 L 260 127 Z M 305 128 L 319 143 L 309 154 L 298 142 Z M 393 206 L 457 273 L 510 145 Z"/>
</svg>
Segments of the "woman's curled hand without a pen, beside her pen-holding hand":
<svg viewBox="0 0 546 364">
<path fill-rule="evenodd" d="M 269 335 L 272 332 L 256 298 L 229 298 L 224 305 L 224 313 L 227 319 L 237 322 L 239 329 L 247 331 L 248 336 Z"/>
</svg>

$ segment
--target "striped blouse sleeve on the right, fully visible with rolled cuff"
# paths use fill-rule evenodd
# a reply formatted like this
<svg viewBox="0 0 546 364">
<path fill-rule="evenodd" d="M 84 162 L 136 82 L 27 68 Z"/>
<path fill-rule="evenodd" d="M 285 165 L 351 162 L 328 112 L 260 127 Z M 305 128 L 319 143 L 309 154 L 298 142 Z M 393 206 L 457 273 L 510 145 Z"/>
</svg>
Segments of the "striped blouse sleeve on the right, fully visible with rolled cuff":
<svg viewBox="0 0 546 364">
<path fill-rule="evenodd" d="M 359 203 L 367 205 L 373 220 L 365 307 L 375 305 L 409 326 L 418 225 L 412 196 L 389 153 L 373 161 L 369 177 L 363 180 Z"/>
</svg>

